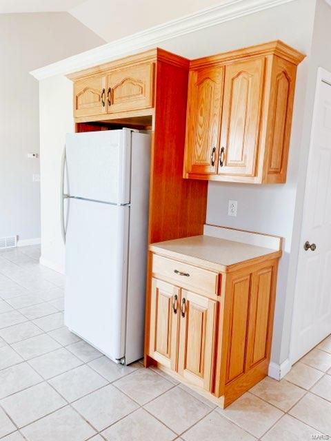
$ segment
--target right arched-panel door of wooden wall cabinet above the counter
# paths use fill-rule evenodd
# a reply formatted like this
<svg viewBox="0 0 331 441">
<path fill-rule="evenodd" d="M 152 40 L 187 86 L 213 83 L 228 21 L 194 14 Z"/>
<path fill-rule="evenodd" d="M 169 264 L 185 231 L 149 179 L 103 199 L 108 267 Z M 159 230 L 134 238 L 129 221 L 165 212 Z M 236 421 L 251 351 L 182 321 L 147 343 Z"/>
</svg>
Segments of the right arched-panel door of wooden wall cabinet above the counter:
<svg viewBox="0 0 331 441">
<path fill-rule="evenodd" d="M 265 59 L 225 68 L 219 175 L 255 176 Z"/>
</svg>

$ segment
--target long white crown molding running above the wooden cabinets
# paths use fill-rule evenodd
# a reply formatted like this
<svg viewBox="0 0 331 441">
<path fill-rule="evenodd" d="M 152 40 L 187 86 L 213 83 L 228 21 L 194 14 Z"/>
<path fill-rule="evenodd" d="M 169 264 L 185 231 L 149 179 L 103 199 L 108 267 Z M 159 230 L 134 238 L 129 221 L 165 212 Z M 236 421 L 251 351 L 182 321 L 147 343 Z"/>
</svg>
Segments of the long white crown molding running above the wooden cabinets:
<svg viewBox="0 0 331 441">
<path fill-rule="evenodd" d="M 224 21 L 238 19 L 239 17 L 254 14 L 254 12 L 268 8 L 274 8 L 275 6 L 289 3 L 290 1 L 293 0 L 230 0 L 226 1 L 226 3 L 223 0 L 218 5 L 210 8 L 205 8 L 193 14 L 186 15 L 185 17 L 153 26 L 152 28 L 136 32 L 128 37 L 57 61 L 57 63 L 32 70 L 30 74 L 37 80 L 54 75 L 70 74 L 77 70 L 90 68 L 93 65 L 126 57 L 134 52 L 155 48 L 163 41 L 173 39 L 174 37 L 180 37 L 190 32 L 210 28 Z"/>
</svg>

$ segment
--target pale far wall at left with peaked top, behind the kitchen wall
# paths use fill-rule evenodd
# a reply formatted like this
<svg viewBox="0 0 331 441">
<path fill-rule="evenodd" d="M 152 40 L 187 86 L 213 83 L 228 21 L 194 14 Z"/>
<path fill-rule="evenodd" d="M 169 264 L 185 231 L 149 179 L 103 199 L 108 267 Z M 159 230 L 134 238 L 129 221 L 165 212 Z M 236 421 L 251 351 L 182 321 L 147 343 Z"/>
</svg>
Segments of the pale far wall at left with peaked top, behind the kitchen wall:
<svg viewBox="0 0 331 441">
<path fill-rule="evenodd" d="M 29 71 L 103 43 L 70 14 L 0 14 L 0 237 L 40 238 L 39 84 Z"/>
</svg>

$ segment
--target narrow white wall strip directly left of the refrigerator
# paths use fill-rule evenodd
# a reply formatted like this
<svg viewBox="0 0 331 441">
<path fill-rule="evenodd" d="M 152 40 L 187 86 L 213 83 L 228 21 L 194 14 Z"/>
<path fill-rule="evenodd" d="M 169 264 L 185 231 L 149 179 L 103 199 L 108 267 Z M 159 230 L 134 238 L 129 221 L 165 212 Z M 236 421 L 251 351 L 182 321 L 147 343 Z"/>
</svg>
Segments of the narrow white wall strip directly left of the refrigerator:
<svg viewBox="0 0 331 441">
<path fill-rule="evenodd" d="M 66 133 L 74 132 L 72 81 L 52 76 L 40 82 L 41 258 L 40 263 L 64 273 L 60 223 L 60 171 Z M 48 106 L 52 103 L 52 107 Z"/>
</svg>

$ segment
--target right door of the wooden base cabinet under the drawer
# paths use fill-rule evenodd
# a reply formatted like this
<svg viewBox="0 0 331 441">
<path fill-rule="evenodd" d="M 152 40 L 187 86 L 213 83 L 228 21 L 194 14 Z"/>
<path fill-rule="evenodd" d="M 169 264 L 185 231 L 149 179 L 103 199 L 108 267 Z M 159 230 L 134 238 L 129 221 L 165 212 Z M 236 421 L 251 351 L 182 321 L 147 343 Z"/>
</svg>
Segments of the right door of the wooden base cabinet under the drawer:
<svg viewBox="0 0 331 441">
<path fill-rule="evenodd" d="M 210 391 L 217 307 L 214 300 L 181 290 L 178 373 Z"/>
</svg>

